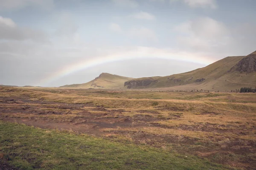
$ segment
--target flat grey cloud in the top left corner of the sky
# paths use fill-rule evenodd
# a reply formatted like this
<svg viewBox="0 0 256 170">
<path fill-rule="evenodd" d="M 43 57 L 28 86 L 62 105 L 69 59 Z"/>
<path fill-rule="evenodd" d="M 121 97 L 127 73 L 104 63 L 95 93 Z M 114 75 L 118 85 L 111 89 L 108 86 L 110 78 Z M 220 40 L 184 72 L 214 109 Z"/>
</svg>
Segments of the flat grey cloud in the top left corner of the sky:
<svg viewBox="0 0 256 170">
<path fill-rule="evenodd" d="M 18 10 L 27 6 L 52 8 L 54 0 L 0 0 L 0 11 Z"/>
</svg>

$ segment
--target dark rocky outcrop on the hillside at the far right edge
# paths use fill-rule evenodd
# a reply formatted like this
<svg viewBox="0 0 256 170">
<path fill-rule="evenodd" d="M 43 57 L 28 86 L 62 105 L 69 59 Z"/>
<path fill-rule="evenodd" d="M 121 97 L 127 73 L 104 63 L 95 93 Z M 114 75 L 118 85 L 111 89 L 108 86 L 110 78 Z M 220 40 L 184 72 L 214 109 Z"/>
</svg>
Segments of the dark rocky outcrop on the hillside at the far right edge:
<svg viewBox="0 0 256 170">
<path fill-rule="evenodd" d="M 236 71 L 251 73 L 256 71 L 256 52 L 247 55 L 239 61 Z"/>
</svg>

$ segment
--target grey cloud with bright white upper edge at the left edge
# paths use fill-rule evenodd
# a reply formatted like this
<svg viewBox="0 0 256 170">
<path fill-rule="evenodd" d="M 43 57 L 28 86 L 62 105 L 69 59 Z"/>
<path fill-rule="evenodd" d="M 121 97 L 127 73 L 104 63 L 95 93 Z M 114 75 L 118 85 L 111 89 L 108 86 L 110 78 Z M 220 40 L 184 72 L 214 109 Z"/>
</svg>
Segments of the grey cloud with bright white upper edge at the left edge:
<svg viewBox="0 0 256 170">
<path fill-rule="evenodd" d="M 0 40 L 47 41 L 47 35 L 39 30 L 19 27 L 10 18 L 0 16 Z"/>
</svg>

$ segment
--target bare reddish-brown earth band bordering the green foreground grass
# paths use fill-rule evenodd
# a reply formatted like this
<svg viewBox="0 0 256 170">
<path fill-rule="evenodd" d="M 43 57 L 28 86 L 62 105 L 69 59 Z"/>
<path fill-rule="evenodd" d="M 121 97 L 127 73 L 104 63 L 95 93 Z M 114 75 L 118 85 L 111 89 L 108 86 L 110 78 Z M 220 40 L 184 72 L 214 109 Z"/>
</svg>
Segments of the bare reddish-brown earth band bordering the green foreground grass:
<svg viewBox="0 0 256 170">
<path fill-rule="evenodd" d="M 250 128 L 232 123 L 222 125 L 190 122 L 189 125 L 164 125 L 159 122 L 182 120 L 184 116 L 182 112 L 187 110 L 169 106 L 155 106 L 154 108 L 157 111 L 138 110 L 137 113 L 131 114 L 132 111 L 128 109 L 111 109 L 92 103 L 67 104 L 31 100 L 26 96 L 22 98 L 12 96 L 0 97 L 0 120 L 41 128 L 74 130 L 110 140 L 118 140 L 119 136 L 124 136 L 135 144 L 170 147 L 178 152 L 194 154 L 221 164 L 255 169 L 256 161 L 248 159 L 247 155 L 256 153 L 256 143 L 237 137 L 246 136 L 250 131 L 256 130 L 255 125 Z M 160 111 L 171 113 L 168 116 L 161 116 Z M 218 113 L 202 112 L 199 115 L 218 116 Z M 159 132 L 165 129 L 207 132 L 211 135 L 208 136 L 209 140 L 205 141 L 200 137 L 151 133 L 143 130 L 144 128 L 159 128 Z M 233 137 L 225 138 L 221 134 L 232 134 Z M 121 139 L 120 142 L 122 142 Z M 235 155 L 234 160 L 236 156 L 239 156 L 239 160 L 232 161 L 231 159 L 230 161 L 230 154 Z M 216 156 L 221 156 L 221 159 Z M 2 167 L 8 168 L 8 165 L 3 164 Z"/>
</svg>

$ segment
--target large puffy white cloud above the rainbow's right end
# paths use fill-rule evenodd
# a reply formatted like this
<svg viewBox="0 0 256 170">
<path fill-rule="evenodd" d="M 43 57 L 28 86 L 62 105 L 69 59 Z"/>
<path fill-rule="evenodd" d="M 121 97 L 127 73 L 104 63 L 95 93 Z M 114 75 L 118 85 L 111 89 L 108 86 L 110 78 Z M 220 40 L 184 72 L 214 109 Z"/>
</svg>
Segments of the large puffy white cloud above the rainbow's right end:
<svg viewBox="0 0 256 170">
<path fill-rule="evenodd" d="M 201 17 L 175 27 L 179 32 L 177 42 L 179 48 L 185 50 L 214 51 L 226 47 L 232 42 L 227 27 L 209 17 Z"/>
</svg>

